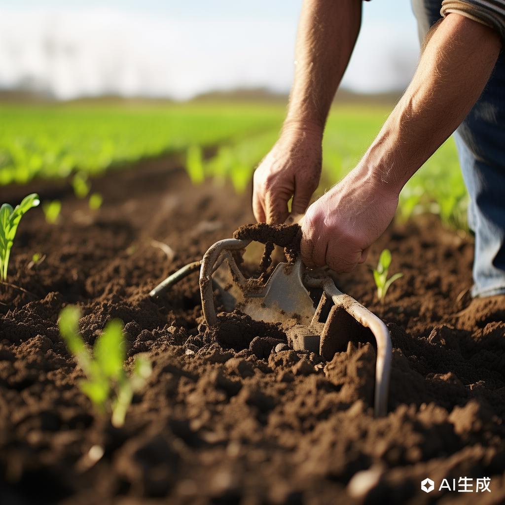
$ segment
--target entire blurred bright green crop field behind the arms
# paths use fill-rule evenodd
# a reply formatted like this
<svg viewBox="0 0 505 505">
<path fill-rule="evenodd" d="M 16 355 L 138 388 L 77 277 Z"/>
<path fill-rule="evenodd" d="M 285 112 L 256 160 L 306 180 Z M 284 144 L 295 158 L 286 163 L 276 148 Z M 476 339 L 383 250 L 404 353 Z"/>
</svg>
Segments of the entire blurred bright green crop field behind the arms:
<svg viewBox="0 0 505 505">
<path fill-rule="evenodd" d="M 356 165 L 389 110 L 333 108 L 321 191 Z M 179 154 L 195 183 L 229 178 L 241 191 L 275 142 L 284 112 L 281 105 L 235 103 L 0 106 L 0 185 L 72 173 L 96 176 L 142 158 Z M 465 207 L 465 186 L 449 139 L 402 191 L 398 215 L 408 219 L 434 212 L 445 224 L 465 228 Z"/>
</svg>

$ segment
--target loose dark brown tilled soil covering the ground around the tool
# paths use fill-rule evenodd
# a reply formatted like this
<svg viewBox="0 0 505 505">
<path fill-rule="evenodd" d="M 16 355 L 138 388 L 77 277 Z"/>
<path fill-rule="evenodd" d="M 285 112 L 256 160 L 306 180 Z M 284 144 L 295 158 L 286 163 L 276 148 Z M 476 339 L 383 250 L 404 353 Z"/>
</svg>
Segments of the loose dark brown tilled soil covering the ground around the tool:
<svg viewBox="0 0 505 505">
<path fill-rule="evenodd" d="M 373 344 L 349 342 L 325 361 L 239 313 L 207 328 L 197 274 L 149 298 L 252 221 L 248 195 L 193 187 L 167 160 L 92 184 L 104 196 L 96 212 L 65 182 L 0 190 L 2 202 L 36 190 L 63 205 L 56 225 L 40 209 L 23 218 L 9 267 L 23 290 L 0 286 L 2 505 L 505 501 L 505 302 L 470 300 L 471 238 L 432 217 L 391 227 L 369 254 L 375 263 L 388 246 L 390 272 L 403 273 L 385 304 L 367 265 L 337 277 L 391 332 L 389 414 L 374 419 Z M 67 304 L 81 307 L 88 344 L 119 317 L 127 366 L 149 353 L 153 375 L 123 428 L 79 389 L 57 329 Z M 472 492 L 458 492 L 464 477 Z M 439 490 L 443 479 L 456 490 Z"/>
</svg>

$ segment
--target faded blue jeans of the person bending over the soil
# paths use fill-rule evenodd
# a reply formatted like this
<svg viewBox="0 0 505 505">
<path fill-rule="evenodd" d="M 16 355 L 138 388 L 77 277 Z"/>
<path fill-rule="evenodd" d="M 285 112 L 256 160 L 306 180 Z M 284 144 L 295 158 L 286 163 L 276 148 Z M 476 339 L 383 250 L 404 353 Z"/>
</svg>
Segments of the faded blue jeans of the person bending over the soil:
<svg viewBox="0 0 505 505">
<path fill-rule="evenodd" d="M 441 0 L 412 0 L 422 40 L 440 19 Z M 505 294 L 505 51 L 486 88 L 456 130 L 475 233 L 473 296 Z"/>
</svg>

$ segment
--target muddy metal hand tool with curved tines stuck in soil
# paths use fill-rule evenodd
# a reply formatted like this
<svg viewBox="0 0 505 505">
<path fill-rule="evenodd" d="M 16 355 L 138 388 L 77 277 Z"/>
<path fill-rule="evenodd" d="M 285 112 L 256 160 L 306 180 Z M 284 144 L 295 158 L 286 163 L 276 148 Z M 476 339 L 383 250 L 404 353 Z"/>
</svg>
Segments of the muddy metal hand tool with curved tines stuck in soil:
<svg viewBox="0 0 505 505">
<path fill-rule="evenodd" d="M 286 223 L 301 219 L 290 216 Z M 374 412 L 376 416 L 386 415 L 391 369 L 391 338 L 386 325 L 337 289 L 330 277 L 317 277 L 299 256 L 292 263 L 277 264 L 266 281 L 245 278 L 234 255 L 250 242 L 236 238 L 219 240 L 209 247 L 201 262 L 181 268 L 153 289 L 150 296 L 157 296 L 199 270 L 201 305 L 208 326 L 218 324 L 214 304 L 217 287 L 226 310 L 238 309 L 259 321 L 282 322 L 293 349 L 313 351 L 327 360 L 335 352 L 345 350 L 352 337 L 373 335 L 377 344 Z M 316 304 L 314 297 L 319 298 Z"/>
</svg>

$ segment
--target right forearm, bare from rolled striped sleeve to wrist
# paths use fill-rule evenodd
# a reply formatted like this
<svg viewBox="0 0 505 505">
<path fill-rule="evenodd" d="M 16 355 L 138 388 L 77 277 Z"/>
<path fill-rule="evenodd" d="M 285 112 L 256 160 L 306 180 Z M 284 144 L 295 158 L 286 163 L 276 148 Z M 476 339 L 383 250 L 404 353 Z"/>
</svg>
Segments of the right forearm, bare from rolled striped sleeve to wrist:
<svg viewBox="0 0 505 505">
<path fill-rule="evenodd" d="M 359 168 L 399 192 L 470 112 L 499 50 L 492 29 L 458 14 L 447 16 Z"/>
</svg>

